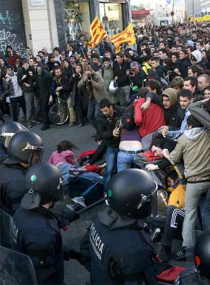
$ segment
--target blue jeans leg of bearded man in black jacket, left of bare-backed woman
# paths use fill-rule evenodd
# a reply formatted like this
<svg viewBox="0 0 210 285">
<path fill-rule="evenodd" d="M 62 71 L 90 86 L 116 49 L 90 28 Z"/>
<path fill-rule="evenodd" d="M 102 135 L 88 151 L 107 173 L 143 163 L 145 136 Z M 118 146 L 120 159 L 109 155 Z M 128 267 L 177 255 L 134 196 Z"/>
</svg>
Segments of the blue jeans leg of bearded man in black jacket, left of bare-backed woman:
<svg viewBox="0 0 210 285">
<path fill-rule="evenodd" d="M 107 191 L 107 183 L 110 178 L 117 172 L 117 154 L 119 152 L 118 147 L 108 147 L 106 154 L 106 169 L 103 175 L 103 187 Z"/>
</svg>

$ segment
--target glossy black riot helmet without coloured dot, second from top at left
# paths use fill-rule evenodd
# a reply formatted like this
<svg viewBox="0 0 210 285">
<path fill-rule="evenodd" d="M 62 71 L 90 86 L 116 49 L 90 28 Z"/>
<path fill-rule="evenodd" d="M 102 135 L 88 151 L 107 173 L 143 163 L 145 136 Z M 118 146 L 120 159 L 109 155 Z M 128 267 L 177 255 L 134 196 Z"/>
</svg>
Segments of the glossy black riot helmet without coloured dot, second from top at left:
<svg viewBox="0 0 210 285">
<path fill-rule="evenodd" d="M 9 143 L 8 153 L 17 162 L 33 165 L 42 160 L 44 147 L 40 136 L 31 132 L 20 132 L 14 135 Z"/>
</svg>

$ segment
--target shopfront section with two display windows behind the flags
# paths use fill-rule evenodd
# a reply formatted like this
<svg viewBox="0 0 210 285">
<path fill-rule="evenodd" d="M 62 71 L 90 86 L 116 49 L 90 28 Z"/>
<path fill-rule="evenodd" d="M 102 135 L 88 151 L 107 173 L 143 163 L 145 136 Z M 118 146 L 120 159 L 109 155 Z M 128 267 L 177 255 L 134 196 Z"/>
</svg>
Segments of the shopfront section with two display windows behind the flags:
<svg viewBox="0 0 210 285">
<path fill-rule="evenodd" d="M 90 23 L 97 15 L 109 36 L 122 31 L 129 23 L 128 0 L 62 0 L 67 40 L 83 33 L 89 38 Z"/>
</svg>

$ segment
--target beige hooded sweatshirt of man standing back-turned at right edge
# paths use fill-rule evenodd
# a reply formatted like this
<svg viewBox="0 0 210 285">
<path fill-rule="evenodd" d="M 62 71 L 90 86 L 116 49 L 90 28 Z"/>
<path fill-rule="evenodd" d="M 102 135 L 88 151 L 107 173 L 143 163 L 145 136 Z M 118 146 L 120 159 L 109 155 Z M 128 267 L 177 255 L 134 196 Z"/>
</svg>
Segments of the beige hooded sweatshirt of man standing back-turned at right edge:
<svg viewBox="0 0 210 285">
<path fill-rule="evenodd" d="M 210 180 L 210 134 L 203 128 L 186 130 L 170 153 L 170 160 L 180 162 L 183 156 L 185 177 L 189 181 L 209 176 Z"/>
</svg>

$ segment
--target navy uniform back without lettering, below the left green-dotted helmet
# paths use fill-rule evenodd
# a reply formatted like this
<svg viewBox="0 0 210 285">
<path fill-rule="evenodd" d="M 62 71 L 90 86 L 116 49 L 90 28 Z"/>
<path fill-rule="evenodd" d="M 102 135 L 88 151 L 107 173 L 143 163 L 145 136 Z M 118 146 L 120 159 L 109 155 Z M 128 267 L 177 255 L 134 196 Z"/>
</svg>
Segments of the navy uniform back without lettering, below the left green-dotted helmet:
<svg viewBox="0 0 210 285">
<path fill-rule="evenodd" d="M 38 284 L 63 284 L 62 237 L 51 210 L 19 207 L 12 226 L 16 250 L 31 258 Z"/>
</svg>

